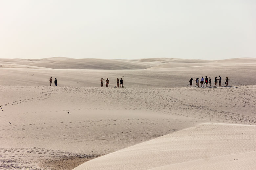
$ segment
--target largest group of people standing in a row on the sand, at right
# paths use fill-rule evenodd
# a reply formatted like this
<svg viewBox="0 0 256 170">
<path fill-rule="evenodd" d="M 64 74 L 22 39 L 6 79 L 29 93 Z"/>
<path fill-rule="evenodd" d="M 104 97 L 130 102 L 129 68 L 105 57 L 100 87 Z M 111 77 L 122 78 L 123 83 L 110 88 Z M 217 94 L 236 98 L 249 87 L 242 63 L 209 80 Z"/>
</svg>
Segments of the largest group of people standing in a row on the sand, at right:
<svg viewBox="0 0 256 170">
<path fill-rule="evenodd" d="M 189 84 L 189 87 L 192 87 L 193 85 L 192 85 L 192 82 L 193 82 L 193 78 L 190 78 L 190 80 L 189 80 L 189 82 L 188 82 L 188 84 Z M 214 79 L 214 83 L 215 83 L 215 87 L 217 87 L 217 82 L 218 82 L 218 80 L 219 80 L 219 86 L 221 86 L 221 80 L 222 80 L 222 78 L 221 78 L 221 76 L 219 76 L 219 78 L 218 77 L 215 77 L 215 79 Z M 228 77 L 226 76 L 226 81 L 225 81 L 225 84 L 226 84 L 226 86 L 228 86 L 228 81 L 229 81 L 229 79 L 228 79 Z M 201 78 L 201 81 L 200 81 L 200 83 L 201 83 L 201 87 L 203 87 L 203 84 L 205 84 L 205 86 L 206 87 L 208 87 L 208 84 L 211 86 L 211 82 L 212 82 L 212 80 L 211 80 L 211 77 L 207 77 L 207 76 L 205 76 L 205 78 Z M 196 78 L 196 86 L 195 87 L 199 87 L 199 78 Z"/>
</svg>

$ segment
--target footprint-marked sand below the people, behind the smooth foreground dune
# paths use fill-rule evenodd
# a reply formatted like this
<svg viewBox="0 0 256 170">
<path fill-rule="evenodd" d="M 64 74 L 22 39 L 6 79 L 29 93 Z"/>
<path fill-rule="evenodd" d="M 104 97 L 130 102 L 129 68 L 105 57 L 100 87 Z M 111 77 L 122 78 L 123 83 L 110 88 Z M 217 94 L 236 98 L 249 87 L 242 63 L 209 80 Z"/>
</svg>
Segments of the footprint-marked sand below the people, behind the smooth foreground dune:
<svg viewBox="0 0 256 170">
<path fill-rule="evenodd" d="M 255 89 L 0 86 L 4 110 L 0 115 L 0 166 L 72 169 L 203 122 L 255 125 Z M 244 136 L 244 132 L 234 133 L 233 127 L 226 129 L 237 134 L 238 142 L 239 135 L 247 139 L 247 133 Z M 250 129 L 244 131 L 252 132 Z M 197 132 L 195 136 L 203 135 Z M 252 147 L 248 148 L 253 151 Z M 193 160 L 197 159 L 201 158 Z M 164 165 L 169 164 L 158 166 Z"/>
</svg>

